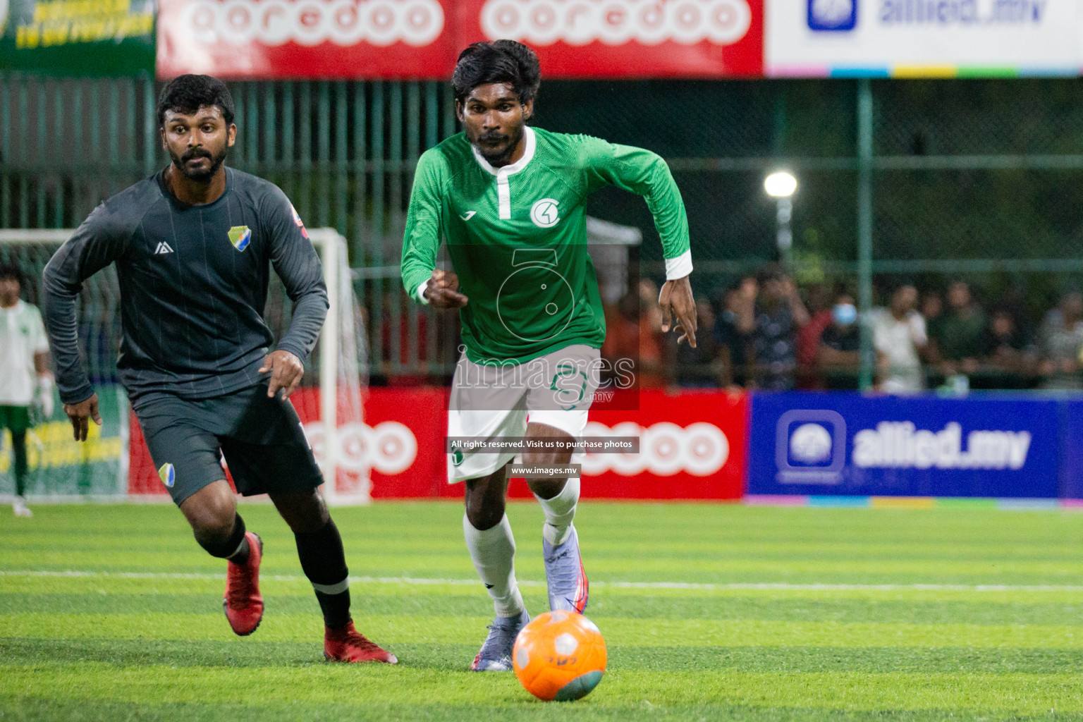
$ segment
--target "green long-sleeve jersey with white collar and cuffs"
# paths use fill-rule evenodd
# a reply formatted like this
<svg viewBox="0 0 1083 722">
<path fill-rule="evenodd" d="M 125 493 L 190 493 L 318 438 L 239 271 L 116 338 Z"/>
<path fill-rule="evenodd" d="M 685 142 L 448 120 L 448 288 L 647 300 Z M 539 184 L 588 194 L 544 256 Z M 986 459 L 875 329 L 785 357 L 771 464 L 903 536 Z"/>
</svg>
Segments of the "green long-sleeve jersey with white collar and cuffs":
<svg viewBox="0 0 1083 722">
<path fill-rule="evenodd" d="M 587 254 L 587 196 L 605 185 L 647 200 L 666 276 L 692 271 L 680 192 L 656 154 L 589 135 L 525 128 L 514 163 L 494 168 L 459 133 L 418 161 L 403 239 L 406 292 L 425 302 L 441 238 L 460 291 L 470 360 L 525 363 L 565 346 L 600 349 L 605 320 Z"/>
</svg>

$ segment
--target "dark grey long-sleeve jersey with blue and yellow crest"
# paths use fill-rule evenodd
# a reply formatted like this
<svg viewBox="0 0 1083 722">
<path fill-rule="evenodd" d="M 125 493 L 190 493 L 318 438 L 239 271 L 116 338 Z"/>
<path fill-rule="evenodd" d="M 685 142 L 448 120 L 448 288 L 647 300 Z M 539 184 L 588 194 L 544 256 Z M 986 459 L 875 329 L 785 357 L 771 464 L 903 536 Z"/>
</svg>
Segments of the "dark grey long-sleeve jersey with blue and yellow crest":
<svg viewBox="0 0 1083 722">
<path fill-rule="evenodd" d="M 159 172 L 99 206 L 44 271 L 44 319 L 65 404 L 93 393 L 79 360 L 75 300 L 109 263 L 120 281 L 117 367 L 130 396 L 166 391 L 206 398 L 259 382 L 274 343 L 263 320 L 270 265 L 293 316 L 277 347 L 302 362 L 327 315 L 319 257 L 273 183 L 226 168 L 225 192 L 185 206 Z"/>
</svg>

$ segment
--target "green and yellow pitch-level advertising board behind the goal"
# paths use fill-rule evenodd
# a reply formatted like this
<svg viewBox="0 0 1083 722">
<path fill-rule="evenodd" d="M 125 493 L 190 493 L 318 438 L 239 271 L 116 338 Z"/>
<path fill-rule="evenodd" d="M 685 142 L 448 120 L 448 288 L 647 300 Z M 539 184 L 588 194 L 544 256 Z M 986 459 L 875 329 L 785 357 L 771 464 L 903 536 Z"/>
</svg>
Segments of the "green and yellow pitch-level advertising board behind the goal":
<svg viewBox="0 0 1083 722">
<path fill-rule="evenodd" d="M 127 491 L 127 397 L 119 386 L 102 386 L 97 404 L 102 425 L 90 424 L 86 442 L 71 438 L 71 422 L 58 396 L 52 418 L 27 431 L 27 495 L 117 496 Z M 0 494 L 14 493 L 11 433 L 4 430 L 0 433 Z"/>
</svg>

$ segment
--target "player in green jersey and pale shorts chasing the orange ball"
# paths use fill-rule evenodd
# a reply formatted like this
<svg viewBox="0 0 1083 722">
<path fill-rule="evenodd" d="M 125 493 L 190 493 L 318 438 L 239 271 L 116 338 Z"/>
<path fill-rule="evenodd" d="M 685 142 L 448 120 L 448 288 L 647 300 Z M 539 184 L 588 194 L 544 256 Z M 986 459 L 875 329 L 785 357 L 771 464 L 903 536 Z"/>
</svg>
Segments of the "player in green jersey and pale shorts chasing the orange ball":
<svg viewBox="0 0 1083 722">
<path fill-rule="evenodd" d="M 695 345 L 688 219 L 657 155 L 526 124 L 540 84 L 538 60 L 511 40 L 478 42 L 452 76 L 465 133 L 418 161 L 403 240 L 406 292 L 458 309 L 464 353 L 456 366 L 448 437 L 571 442 L 582 437 L 599 378 L 605 321 L 587 254 L 586 198 L 605 185 L 643 196 L 666 258 L 664 330 Z M 454 271 L 436 268 L 446 239 Z M 461 279 L 461 286 L 460 286 Z M 676 323 L 671 319 L 676 317 Z M 471 669 L 511 669 L 530 621 L 516 583 L 516 544 L 505 501 L 514 451 L 455 449 L 448 482 L 466 482 L 462 528 L 496 617 Z M 526 450 L 523 463 L 567 464 L 566 450 Z M 527 478 L 545 511 L 549 606 L 582 613 L 587 577 L 572 522 L 579 478 Z"/>
</svg>

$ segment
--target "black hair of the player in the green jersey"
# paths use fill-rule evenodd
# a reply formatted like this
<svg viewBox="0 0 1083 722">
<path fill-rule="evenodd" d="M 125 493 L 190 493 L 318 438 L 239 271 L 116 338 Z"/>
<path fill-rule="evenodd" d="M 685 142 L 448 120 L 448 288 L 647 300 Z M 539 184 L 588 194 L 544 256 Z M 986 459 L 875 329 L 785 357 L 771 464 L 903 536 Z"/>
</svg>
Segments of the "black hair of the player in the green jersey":
<svg viewBox="0 0 1083 722">
<path fill-rule="evenodd" d="M 452 74 L 455 100 L 464 102 L 478 86 L 509 83 L 521 103 L 537 97 L 542 68 L 534 51 L 514 40 L 475 42 L 459 53 Z"/>
</svg>

